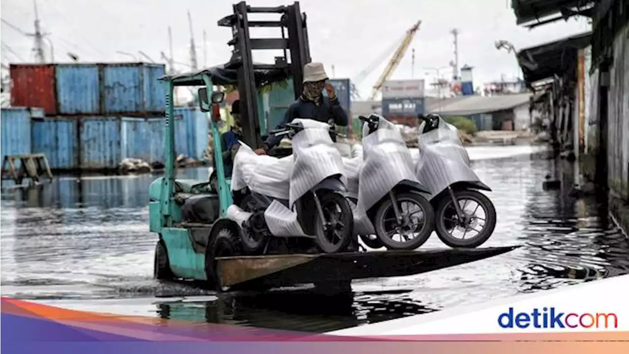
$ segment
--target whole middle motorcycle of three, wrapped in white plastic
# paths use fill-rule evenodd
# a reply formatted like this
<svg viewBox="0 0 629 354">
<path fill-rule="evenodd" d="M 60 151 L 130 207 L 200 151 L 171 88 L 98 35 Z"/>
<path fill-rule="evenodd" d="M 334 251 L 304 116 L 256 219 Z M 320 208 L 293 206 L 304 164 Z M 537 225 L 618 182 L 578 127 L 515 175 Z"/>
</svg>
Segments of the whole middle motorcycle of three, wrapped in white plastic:
<svg viewBox="0 0 629 354">
<path fill-rule="evenodd" d="M 398 128 L 379 115 L 360 120 L 365 122 L 362 161 L 360 156 L 345 160 L 354 230 L 369 248 L 419 248 L 434 227 L 433 208 L 422 195 L 430 191 L 417 180 Z"/>
</svg>

